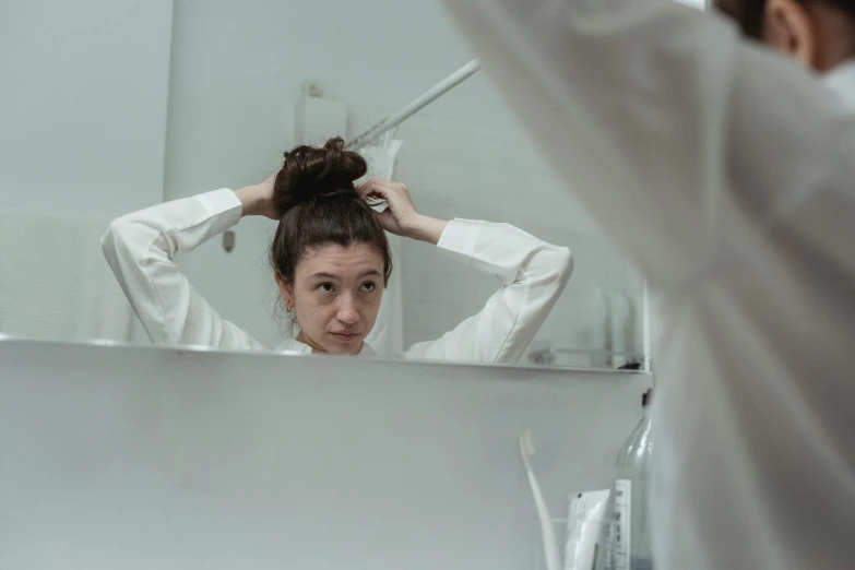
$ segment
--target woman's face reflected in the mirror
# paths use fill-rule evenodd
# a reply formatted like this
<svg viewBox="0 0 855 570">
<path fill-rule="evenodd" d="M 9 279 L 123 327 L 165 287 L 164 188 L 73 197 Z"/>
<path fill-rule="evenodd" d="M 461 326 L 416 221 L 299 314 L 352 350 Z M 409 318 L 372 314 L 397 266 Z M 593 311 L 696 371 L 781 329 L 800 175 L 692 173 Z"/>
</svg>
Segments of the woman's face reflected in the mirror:
<svg viewBox="0 0 855 570">
<path fill-rule="evenodd" d="M 383 258 L 367 244 L 311 249 L 280 290 L 296 314 L 298 341 L 314 352 L 357 354 L 380 310 Z"/>
</svg>

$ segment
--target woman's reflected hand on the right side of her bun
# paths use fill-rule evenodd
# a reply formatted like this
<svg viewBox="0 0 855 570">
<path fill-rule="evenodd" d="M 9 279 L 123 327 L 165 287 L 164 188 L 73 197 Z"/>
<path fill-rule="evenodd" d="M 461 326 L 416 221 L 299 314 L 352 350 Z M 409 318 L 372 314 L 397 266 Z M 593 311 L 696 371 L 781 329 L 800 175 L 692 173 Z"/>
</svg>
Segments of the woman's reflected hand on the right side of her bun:
<svg viewBox="0 0 855 570">
<path fill-rule="evenodd" d="M 383 200 L 389 207 L 375 212 L 383 229 L 397 236 L 404 236 L 421 241 L 437 244 L 447 222 L 423 216 L 416 210 L 409 189 L 401 182 L 383 178 L 371 178 L 356 188 L 356 193 L 363 200 L 377 198 Z"/>
</svg>

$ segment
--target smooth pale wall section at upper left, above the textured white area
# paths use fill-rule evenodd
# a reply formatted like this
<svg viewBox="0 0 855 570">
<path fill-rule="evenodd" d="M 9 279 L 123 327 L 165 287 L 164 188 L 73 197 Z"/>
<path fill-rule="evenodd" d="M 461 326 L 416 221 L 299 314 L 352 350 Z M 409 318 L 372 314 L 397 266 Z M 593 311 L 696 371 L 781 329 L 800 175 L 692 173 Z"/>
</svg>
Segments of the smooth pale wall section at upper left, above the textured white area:
<svg viewBox="0 0 855 570">
<path fill-rule="evenodd" d="M 163 198 L 171 15 L 171 0 L 0 3 L 0 210 L 106 227 Z"/>
</svg>

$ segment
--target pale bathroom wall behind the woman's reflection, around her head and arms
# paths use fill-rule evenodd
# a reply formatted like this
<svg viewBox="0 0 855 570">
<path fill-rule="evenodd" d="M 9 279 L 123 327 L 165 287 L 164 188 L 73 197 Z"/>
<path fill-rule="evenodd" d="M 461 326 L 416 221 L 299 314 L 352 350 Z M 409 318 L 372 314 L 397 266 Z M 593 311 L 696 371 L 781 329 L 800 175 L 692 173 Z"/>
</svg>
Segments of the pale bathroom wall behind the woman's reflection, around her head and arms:
<svg viewBox="0 0 855 570">
<path fill-rule="evenodd" d="M 353 135 L 470 58 L 439 3 L 427 0 L 178 1 L 166 197 L 240 187 L 277 168 L 294 144 L 294 107 L 307 82 L 348 105 Z M 401 138 L 397 178 L 425 213 L 506 221 L 571 247 L 575 275 L 538 342 L 597 346 L 594 287 L 639 287 L 537 157 L 486 75 L 411 119 Z M 214 240 L 181 261 L 226 318 L 269 345 L 280 335 L 271 319 L 271 229 L 266 221 L 246 219 L 231 254 Z M 404 258 L 407 344 L 477 311 L 494 288 L 491 280 L 439 261 L 430 248 L 405 242 Z"/>
</svg>

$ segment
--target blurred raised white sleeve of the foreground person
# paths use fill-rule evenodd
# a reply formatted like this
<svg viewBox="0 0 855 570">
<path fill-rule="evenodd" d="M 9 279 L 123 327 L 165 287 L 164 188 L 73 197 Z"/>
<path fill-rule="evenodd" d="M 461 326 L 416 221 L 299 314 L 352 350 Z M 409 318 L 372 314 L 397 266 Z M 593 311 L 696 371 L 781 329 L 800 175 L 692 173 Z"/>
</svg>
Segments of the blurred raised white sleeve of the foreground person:
<svg viewBox="0 0 855 570">
<path fill-rule="evenodd" d="M 653 285 L 739 256 L 746 216 L 821 185 L 828 142 L 843 135 L 829 135 L 840 114 L 816 78 L 670 0 L 446 5 L 545 157 Z"/>
</svg>

